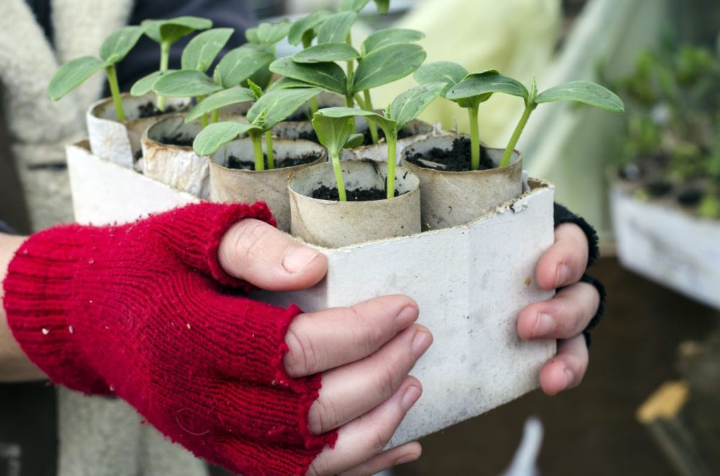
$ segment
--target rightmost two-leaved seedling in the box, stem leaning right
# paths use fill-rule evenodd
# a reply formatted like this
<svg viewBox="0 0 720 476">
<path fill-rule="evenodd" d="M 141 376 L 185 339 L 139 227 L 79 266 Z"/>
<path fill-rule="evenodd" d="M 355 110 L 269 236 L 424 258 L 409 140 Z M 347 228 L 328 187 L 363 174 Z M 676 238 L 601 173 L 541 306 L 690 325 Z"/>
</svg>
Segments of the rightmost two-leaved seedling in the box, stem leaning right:
<svg viewBox="0 0 720 476">
<path fill-rule="evenodd" d="M 466 78 L 446 93 L 446 97 L 451 101 L 474 100 L 493 93 L 510 94 L 521 97 L 525 101 L 525 110 L 520 122 L 518 122 L 512 137 L 510 137 L 510 143 L 505 148 L 502 159 L 500 159 L 499 166 L 501 168 L 510 165 L 510 157 L 513 155 L 513 150 L 518 144 L 530 114 L 539 104 L 555 101 L 575 101 L 616 114 L 622 114 L 625 111 L 623 101 L 615 93 L 599 84 L 590 83 L 590 81 L 571 81 L 538 93 L 535 78 L 533 78 L 530 91 L 528 91 L 528 88 L 520 82 L 503 76 L 496 70 L 467 75 Z"/>
</svg>

